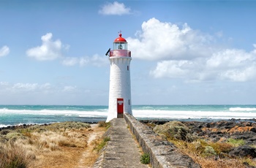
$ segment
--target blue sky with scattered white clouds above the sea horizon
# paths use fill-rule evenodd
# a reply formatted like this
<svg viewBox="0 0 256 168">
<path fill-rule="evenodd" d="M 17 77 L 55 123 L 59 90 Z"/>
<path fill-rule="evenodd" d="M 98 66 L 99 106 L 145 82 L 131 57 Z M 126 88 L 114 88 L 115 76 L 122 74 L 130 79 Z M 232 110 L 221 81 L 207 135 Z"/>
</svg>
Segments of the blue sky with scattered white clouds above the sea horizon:
<svg viewBox="0 0 256 168">
<path fill-rule="evenodd" d="M 132 104 L 255 104 L 256 1 L 0 0 L 0 104 L 108 105 L 121 31 Z"/>
</svg>

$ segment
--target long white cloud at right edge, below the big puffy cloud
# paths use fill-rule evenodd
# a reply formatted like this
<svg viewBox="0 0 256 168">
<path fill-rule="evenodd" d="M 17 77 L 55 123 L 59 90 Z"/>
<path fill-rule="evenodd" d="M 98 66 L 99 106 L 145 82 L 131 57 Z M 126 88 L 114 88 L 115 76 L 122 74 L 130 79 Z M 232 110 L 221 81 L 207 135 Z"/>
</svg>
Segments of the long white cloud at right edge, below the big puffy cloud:
<svg viewBox="0 0 256 168">
<path fill-rule="evenodd" d="M 187 81 L 231 80 L 245 82 L 256 78 L 256 50 L 222 50 L 206 58 L 159 61 L 150 72 L 154 77 L 184 78 Z"/>
</svg>

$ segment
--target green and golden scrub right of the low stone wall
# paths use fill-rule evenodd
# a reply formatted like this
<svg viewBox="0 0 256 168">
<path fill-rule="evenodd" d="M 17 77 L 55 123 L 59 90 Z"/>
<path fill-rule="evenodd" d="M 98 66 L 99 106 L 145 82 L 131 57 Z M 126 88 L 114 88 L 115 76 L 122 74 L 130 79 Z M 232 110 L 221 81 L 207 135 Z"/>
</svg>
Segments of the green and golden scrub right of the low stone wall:
<svg viewBox="0 0 256 168">
<path fill-rule="evenodd" d="M 226 142 L 211 142 L 192 137 L 189 129 L 181 123 L 168 124 L 166 128 L 164 126 L 151 126 L 151 128 L 153 127 L 160 136 L 164 135 L 167 140 L 173 142 L 181 153 L 191 157 L 201 167 L 245 167 L 244 163 L 256 166 L 256 161 L 249 157 L 233 158 L 228 154 L 233 148 L 245 145 L 244 140 L 229 138 Z"/>
</svg>

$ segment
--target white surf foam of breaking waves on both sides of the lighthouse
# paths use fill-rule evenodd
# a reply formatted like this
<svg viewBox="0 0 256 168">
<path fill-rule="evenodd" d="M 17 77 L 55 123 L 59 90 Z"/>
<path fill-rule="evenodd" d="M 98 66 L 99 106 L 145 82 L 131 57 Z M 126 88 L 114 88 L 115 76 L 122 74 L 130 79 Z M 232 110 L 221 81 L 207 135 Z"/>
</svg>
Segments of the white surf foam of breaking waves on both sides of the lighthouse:
<svg viewBox="0 0 256 168">
<path fill-rule="evenodd" d="M 147 107 L 144 110 L 132 110 L 136 118 L 213 118 L 213 119 L 230 119 L 230 118 L 256 118 L 256 108 L 232 107 L 229 111 L 178 111 L 178 110 L 155 110 Z M 0 115 L 76 115 L 83 117 L 107 117 L 108 109 L 105 110 L 9 110 L 0 109 Z M 1 125 L 0 125 L 1 126 Z"/>
</svg>

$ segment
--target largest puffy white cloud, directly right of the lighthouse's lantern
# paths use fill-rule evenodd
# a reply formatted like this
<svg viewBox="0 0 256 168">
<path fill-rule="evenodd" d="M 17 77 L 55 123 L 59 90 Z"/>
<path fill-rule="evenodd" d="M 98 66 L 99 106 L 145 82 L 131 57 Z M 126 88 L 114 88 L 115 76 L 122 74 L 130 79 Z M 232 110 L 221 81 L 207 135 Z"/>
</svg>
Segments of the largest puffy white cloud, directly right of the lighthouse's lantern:
<svg viewBox="0 0 256 168">
<path fill-rule="evenodd" d="M 128 37 L 132 57 L 144 60 L 191 59 L 211 53 L 213 37 L 192 30 L 187 23 L 162 23 L 156 18 L 143 22 L 137 38 Z"/>
</svg>

